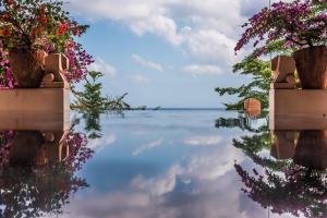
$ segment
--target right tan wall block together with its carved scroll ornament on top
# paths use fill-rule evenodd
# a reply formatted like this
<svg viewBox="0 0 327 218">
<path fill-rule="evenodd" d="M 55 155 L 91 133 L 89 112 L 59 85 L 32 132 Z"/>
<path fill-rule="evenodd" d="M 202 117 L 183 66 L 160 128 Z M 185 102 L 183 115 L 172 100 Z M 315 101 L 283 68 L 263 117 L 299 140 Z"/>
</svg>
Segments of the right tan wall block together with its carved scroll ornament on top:
<svg viewBox="0 0 327 218">
<path fill-rule="evenodd" d="M 327 130 L 327 90 L 295 88 L 292 58 L 271 61 L 270 130 Z"/>
</svg>

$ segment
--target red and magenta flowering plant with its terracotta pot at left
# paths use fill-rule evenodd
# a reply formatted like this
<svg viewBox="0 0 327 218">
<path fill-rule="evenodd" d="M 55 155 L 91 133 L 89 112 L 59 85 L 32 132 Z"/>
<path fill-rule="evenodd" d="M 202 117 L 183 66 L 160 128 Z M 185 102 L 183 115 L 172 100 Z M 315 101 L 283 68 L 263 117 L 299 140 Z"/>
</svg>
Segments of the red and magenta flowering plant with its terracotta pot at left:
<svg viewBox="0 0 327 218">
<path fill-rule="evenodd" d="M 87 74 L 86 66 L 93 59 L 74 41 L 87 26 L 71 20 L 62 8 L 61 1 L 0 2 L 1 59 L 9 59 L 17 87 L 39 87 L 45 73 L 44 59 L 52 52 L 64 52 L 69 57 L 71 66 L 65 73 L 70 81 L 80 81 Z"/>
</svg>

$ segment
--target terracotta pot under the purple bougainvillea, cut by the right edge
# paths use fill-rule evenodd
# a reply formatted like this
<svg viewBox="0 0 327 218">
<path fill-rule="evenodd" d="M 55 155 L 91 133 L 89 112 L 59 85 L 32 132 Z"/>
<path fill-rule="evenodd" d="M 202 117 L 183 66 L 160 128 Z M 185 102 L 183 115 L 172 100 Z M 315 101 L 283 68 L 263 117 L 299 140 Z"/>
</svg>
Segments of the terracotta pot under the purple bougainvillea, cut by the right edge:
<svg viewBox="0 0 327 218">
<path fill-rule="evenodd" d="M 326 46 L 298 50 L 293 58 L 303 89 L 325 89 L 327 87 Z"/>
</svg>

